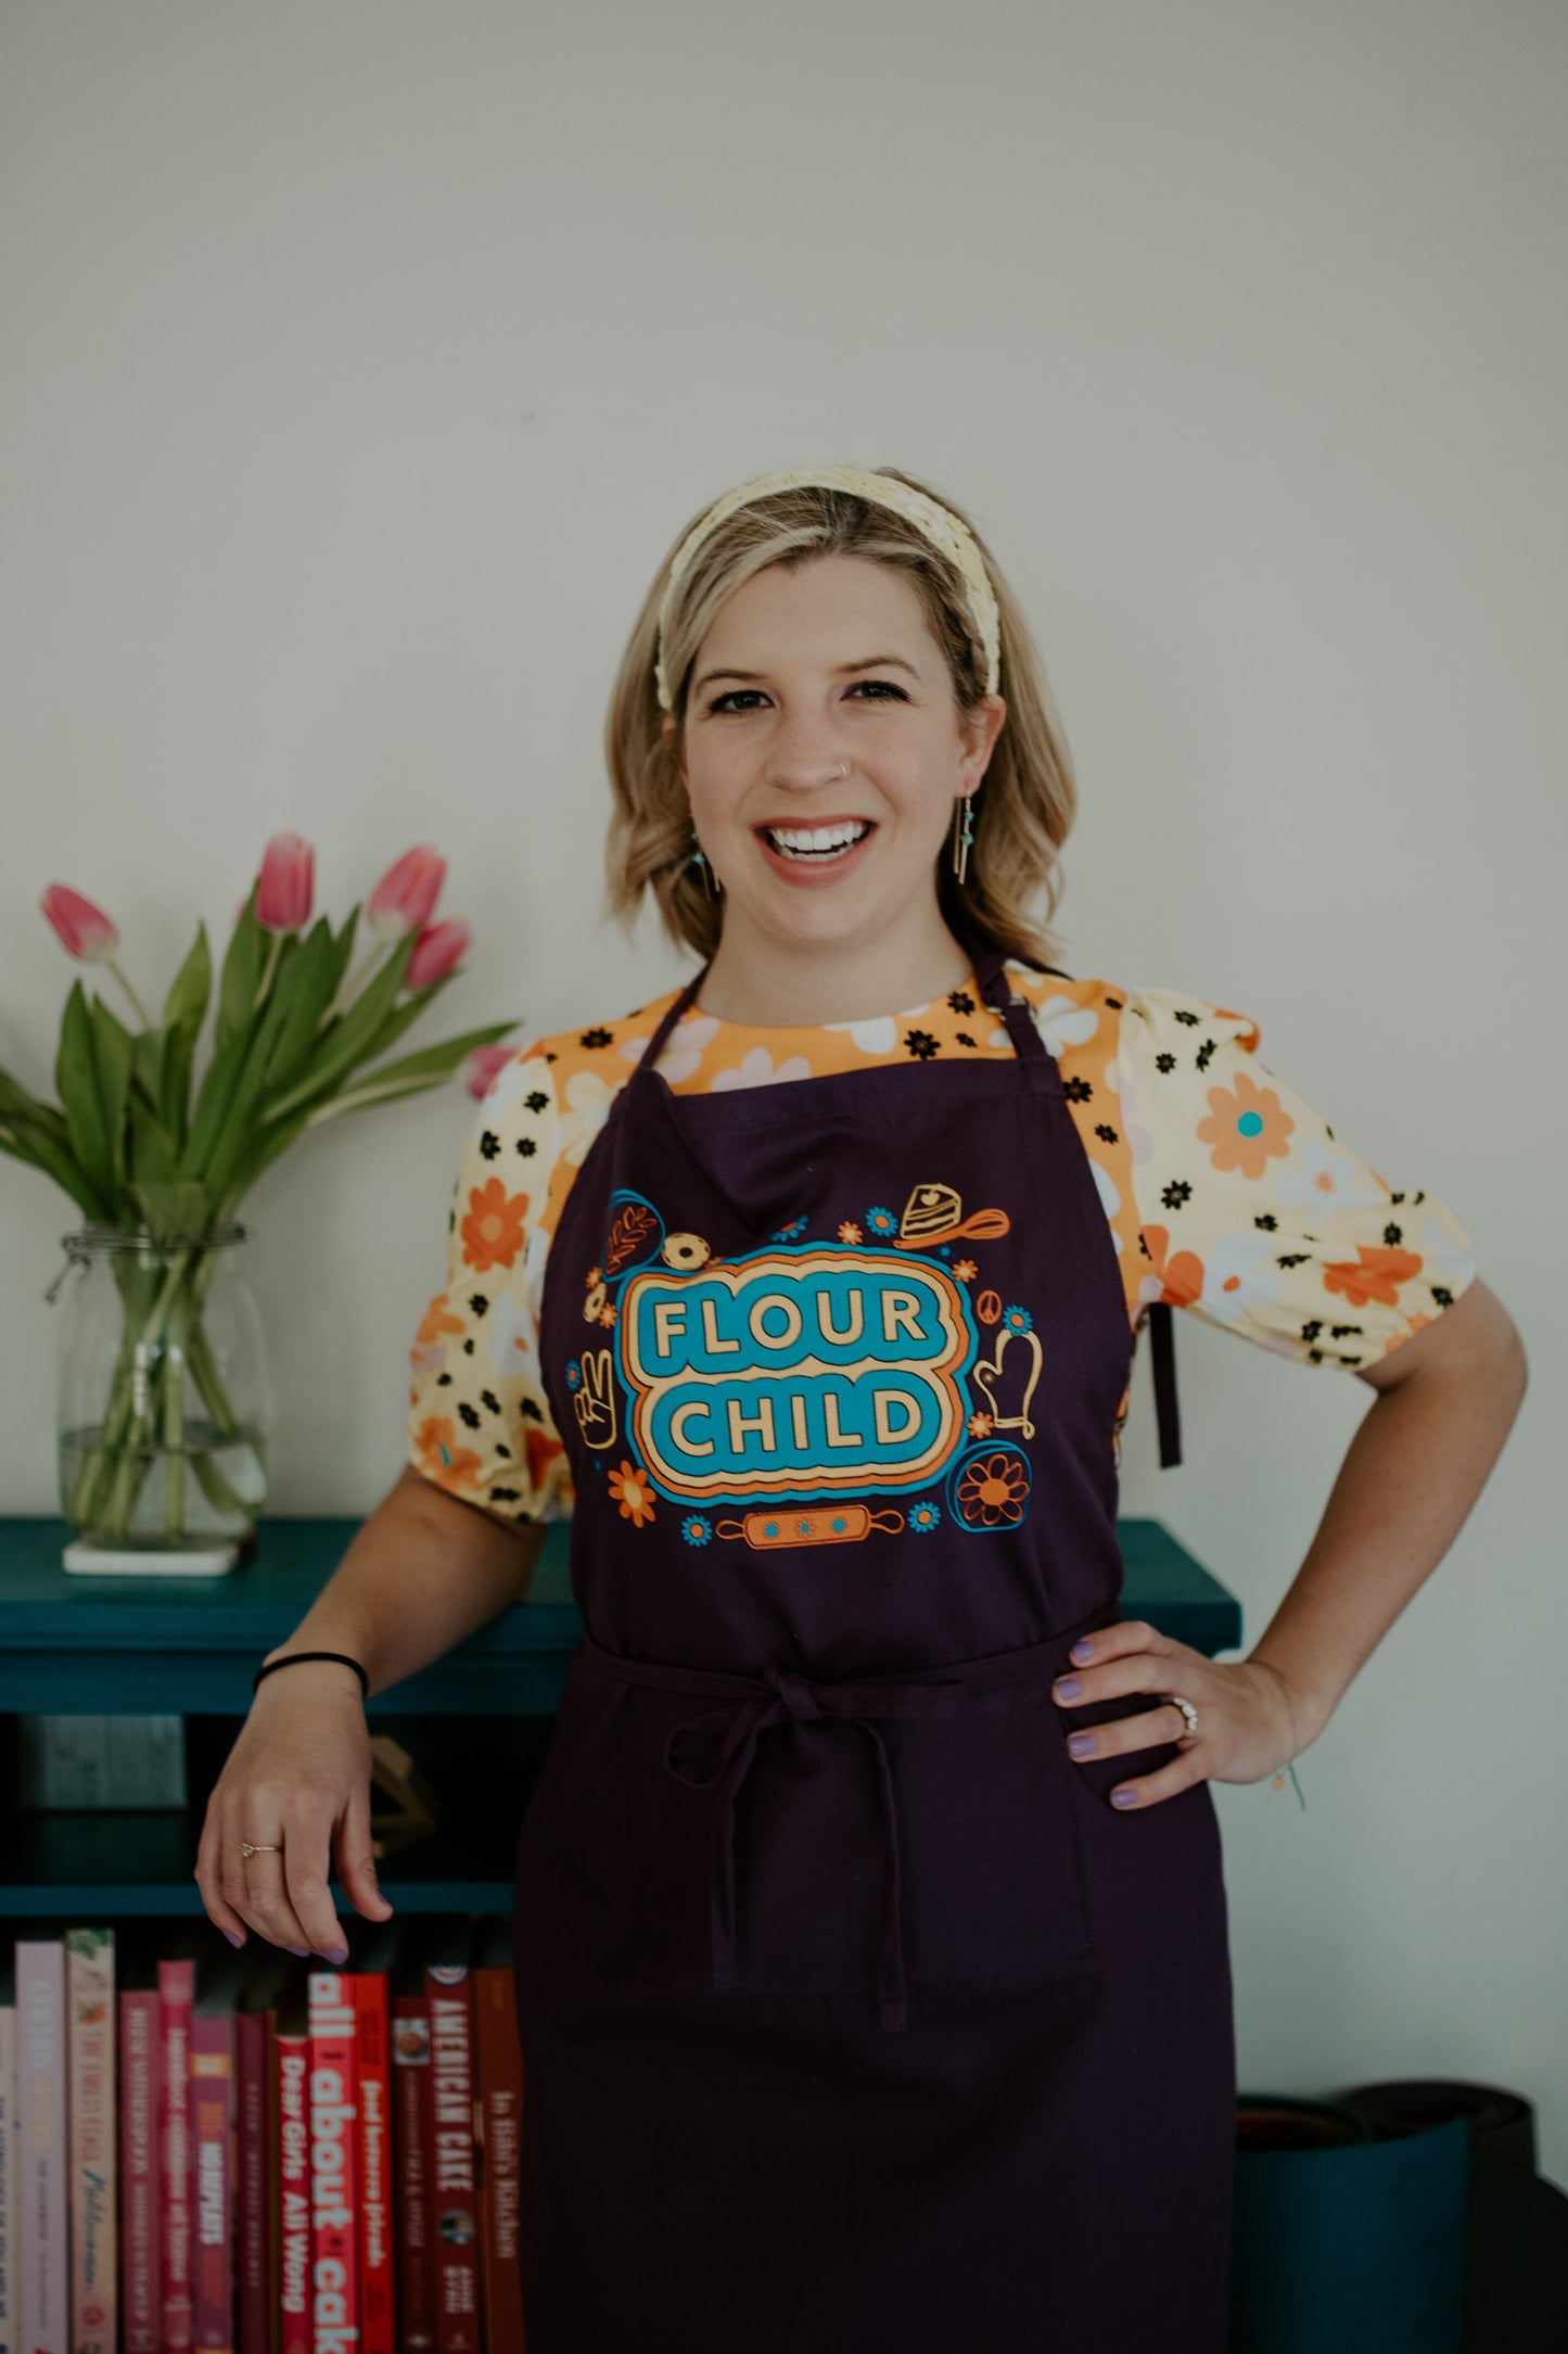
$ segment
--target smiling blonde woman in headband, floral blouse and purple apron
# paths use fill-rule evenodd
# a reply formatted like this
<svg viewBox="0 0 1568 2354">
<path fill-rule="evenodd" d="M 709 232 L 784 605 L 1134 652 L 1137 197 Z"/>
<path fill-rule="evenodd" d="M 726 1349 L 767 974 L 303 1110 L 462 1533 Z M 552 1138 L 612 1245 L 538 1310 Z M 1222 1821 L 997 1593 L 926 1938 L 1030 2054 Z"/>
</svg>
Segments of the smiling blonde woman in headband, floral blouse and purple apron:
<svg viewBox="0 0 1568 2354">
<path fill-rule="evenodd" d="M 1516 1332 L 1241 1015 L 1050 965 L 1067 751 L 906 476 L 697 518 L 607 751 L 612 899 L 702 970 L 497 1076 L 410 1469 L 273 1655 L 396 1683 L 572 1502 L 518 1860 L 530 2349 L 1217 2354 L 1208 1782 L 1321 1735 L 1502 1445 Z M 1377 1391 L 1231 1664 L 1118 1617 L 1170 1302 Z M 377 1919 L 360 1678 L 297 1660 L 212 1798 L 212 1919 L 334 1959 L 330 1843 Z"/>
</svg>

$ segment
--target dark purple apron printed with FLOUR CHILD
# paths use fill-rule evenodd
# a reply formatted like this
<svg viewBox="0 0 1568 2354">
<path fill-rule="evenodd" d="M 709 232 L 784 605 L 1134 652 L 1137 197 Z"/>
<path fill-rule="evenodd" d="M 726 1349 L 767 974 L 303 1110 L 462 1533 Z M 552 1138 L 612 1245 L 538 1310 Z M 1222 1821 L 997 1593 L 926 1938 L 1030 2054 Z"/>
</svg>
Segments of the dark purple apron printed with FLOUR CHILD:
<svg viewBox="0 0 1568 2354">
<path fill-rule="evenodd" d="M 1116 1250 L 1055 1059 L 610 1106 L 544 1379 L 584 1615 L 518 1853 L 530 2354 L 1222 2354 L 1208 1784 L 1076 1766 Z"/>
</svg>

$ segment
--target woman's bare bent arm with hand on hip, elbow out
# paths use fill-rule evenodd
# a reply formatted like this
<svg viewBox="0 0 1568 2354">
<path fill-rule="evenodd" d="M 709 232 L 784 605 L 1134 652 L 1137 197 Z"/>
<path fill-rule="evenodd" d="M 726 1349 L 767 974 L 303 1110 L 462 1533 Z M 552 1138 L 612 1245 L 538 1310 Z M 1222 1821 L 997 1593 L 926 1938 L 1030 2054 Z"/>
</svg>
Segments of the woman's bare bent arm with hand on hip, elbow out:
<svg viewBox="0 0 1568 2354">
<path fill-rule="evenodd" d="M 1205 1660 L 1142 1620 L 1076 1645 L 1074 1660 L 1092 1664 L 1057 1681 L 1064 1709 L 1182 1693 L 1198 1711 L 1194 1735 L 1165 1704 L 1071 1735 L 1076 1758 L 1182 1737 L 1168 1766 L 1114 1789 L 1116 1806 L 1149 1806 L 1203 1780 L 1260 1782 L 1318 1737 L 1464 1525 L 1519 1412 L 1526 1354 L 1507 1309 L 1474 1281 L 1358 1379 L 1377 1401 L 1347 1448 L 1302 1568 L 1245 1660 Z"/>
</svg>

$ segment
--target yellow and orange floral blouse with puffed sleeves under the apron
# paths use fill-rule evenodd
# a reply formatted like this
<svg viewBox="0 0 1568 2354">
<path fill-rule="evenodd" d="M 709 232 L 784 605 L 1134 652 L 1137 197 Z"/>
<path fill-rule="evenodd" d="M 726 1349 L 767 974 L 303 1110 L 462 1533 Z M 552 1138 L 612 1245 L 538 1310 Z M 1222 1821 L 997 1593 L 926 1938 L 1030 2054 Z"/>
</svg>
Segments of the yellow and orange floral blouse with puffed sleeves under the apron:
<svg viewBox="0 0 1568 2354">
<path fill-rule="evenodd" d="M 1354 1370 L 1398 1349 L 1469 1285 L 1469 1241 L 1446 1203 L 1391 1189 L 1342 1144 L 1257 1059 L 1245 1015 L 1172 989 L 1005 970 L 1062 1071 L 1132 1332 L 1165 1299 L 1276 1356 Z M 551 1233 L 676 993 L 523 1045 L 461 1151 L 447 1283 L 410 1351 L 407 1459 L 509 1521 L 572 1507 L 539 1372 Z M 659 1071 L 678 1092 L 718 1092 L 935 1055 L 1012 1055 L 975 982 L 899 1015 L 805 1029 L 749 1029 L 690 1008 Z M 1123 1394 L 1111 1443 L 1125 1412 Z"/>
</svg>

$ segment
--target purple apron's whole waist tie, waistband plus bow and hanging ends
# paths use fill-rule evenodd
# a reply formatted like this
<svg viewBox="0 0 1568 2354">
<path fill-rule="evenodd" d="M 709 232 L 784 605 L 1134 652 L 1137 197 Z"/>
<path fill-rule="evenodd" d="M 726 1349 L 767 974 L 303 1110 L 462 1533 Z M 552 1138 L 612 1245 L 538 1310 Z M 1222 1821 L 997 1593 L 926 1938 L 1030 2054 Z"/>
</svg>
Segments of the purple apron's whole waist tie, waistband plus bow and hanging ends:
<svg viewBox="0 0 1568 2354">
<path fill-rule="evenodd" d="M 883 1886 L 878 1923 L 876 2003 L 878 2022 L 888 2034 L 909 2024 L 909 1984 L 904 1975 L 902 1930 L 902 1876 L 899 1876 L 899 1813 L 892 1796 L 892 1768 L 888 1747 L 876 1730 L 878 1718 L 954 1716 L 972 1690 L 1017 1683 L 1024 1676 L 1050 1674 L 1067 1648 L 1088 1627 L 1102 1627 L 1116 1617 L 1116 1608 L 1097 1610 L 1083 1627 L 1074 1627 L 1048 1643 L 1029 1643 L 1022 1650 L 998 1653 L 991 1660 L 970 1660 L 954 1671 L 916 1674 L 885 1683 L 819 1683 L 793 1669 L 768 1667 L 760 1676 L 727 1676 L 716 1669 L 662 1667 L 655 1660 L 629 1660 L 605 1650 L 593 1636 L 584 1636 L 584 1650 L 596 1667 L 624 1683 L 643 1683 L 659 1693 L 723 1695 L 732 1707 L 709 1709 L 704 1716 L 687 1716 L 676 1725 L 664 1744 L 664 1766 L 690 1789 L 713 1791 L 711 1817 L 711 1876 L 709 1921 L 713 1935 L 713 1987 L 739 1984 L 737 1933 L 735 1933 L 735 1803 L 742 1782 L 751 1773 L 756 1744 L 772 1725 L 817 1723 L 841 1718 L 859 1725 L 876 1754 L 876 1791 L 883 1829 Z M 720 1751 L 711 1770 L 680 1761 L 678 1749 L 690 1740 L 718 1740 Z"/>
</svg>

